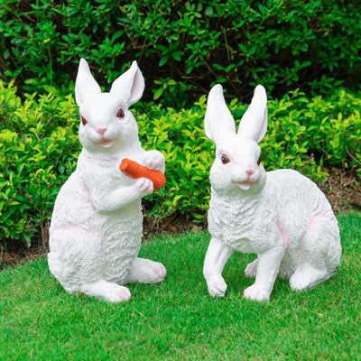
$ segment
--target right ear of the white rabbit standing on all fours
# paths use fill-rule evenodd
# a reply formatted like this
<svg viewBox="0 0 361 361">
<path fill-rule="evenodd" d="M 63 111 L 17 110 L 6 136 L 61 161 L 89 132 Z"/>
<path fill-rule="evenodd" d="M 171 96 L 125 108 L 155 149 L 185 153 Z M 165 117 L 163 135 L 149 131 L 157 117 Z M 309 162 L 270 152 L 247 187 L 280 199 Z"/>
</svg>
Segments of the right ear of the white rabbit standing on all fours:
<svg viewBox="0 0 361 361">
<path fill-rule="evenodd" d="M 248 109 L 242 116 L 238 134 L 255 142 L 264 139 L 267 131 L 267 95 L 262 85 L 255 87 L 255 94 Z"/>
</svg>

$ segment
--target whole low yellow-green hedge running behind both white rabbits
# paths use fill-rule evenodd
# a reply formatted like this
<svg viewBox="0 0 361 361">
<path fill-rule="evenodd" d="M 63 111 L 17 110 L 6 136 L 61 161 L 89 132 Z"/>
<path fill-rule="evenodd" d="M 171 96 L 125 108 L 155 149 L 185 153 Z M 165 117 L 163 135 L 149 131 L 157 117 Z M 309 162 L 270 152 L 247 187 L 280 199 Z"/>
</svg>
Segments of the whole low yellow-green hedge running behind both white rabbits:
<svg viewBox="0 0 361 361">
<path fill-rule="evenodd" d="M 239 120 L 245 106 L 236 99 L 229 106 Z M 336 89 L 325 99 L 293 91 L 268 107 L 267 170 L 293 168 L 323 180 L 322 166 L 337 166 L 361 177 L 361 94 Z M 167 183 L 148 197 L 148 214 L 205 220 L 214 157 L 203 131 L 205 110 L 206 96 L 180 111 L 153 103 L 135 109 L 144 148 L 160 150 L 167 164 Z M 78 108 L 55 89 L 22 101 L 13 84 L 0 81 L 0 118 L 0 239 L 46 242 L 53 202 L 80 151 Z"/>
</svg>

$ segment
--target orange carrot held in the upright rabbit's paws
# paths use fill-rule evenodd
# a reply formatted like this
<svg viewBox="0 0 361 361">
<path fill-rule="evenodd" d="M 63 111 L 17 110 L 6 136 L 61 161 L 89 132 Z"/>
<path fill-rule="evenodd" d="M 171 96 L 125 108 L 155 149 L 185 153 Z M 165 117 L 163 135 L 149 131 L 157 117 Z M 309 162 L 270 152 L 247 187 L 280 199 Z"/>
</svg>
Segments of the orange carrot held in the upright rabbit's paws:
<svg viewBox="0 0 361 361">
<path fill-rule="evenodd" d="M 131 161 L 130 159 L 125 158 L 119 165 L 120 171 L 123 171 L 126 176 L 138 179 L 138 178 L 148 178 L 148 180 L 153 181 L 154 190 L 160 190 L 165 184 L 165 176 L 162 171 L 150 170 L 143 165 Z"/>
</svg>

